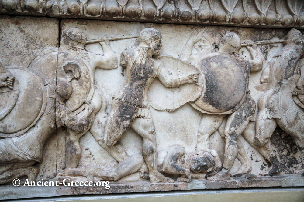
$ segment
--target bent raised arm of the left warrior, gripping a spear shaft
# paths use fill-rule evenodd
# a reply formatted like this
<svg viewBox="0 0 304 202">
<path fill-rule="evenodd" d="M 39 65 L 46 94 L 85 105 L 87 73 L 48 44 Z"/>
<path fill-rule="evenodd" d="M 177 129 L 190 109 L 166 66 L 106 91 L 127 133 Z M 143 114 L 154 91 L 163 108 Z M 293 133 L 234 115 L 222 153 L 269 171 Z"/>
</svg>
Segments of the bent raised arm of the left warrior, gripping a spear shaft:
<svg viewBox="0 0 304 202">
<path fill-rule="evenodd" d="M 98 39 L 101 39 L 98 37 Z M 112 48 L 110 47 L 109 40 L 105 38 L 105 41 L 99 42 L 102 47 L 103 55 L 98 55 L 88 52 L 90 56 L 91 65 L 93 68 L 100 69 L 116 69 L 117 68 L 117 58 Z"/>
</svg>

